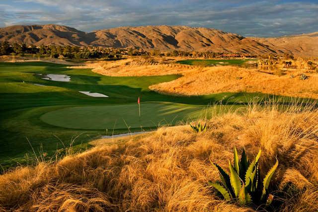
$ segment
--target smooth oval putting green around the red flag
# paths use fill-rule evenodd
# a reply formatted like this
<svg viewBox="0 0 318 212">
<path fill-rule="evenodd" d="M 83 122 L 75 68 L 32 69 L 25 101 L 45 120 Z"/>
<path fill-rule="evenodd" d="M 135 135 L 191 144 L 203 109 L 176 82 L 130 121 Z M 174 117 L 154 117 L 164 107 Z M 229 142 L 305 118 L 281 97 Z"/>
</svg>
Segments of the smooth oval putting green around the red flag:
<svg viewBox="0 0 318 212">
<path fill-rule="evenodd" d="M 50 125 L 83 129 L 127 129 L 176 124 L 205 115 L 205 107 L 176 103 L 143 103 L 139 118 L 138 104 L 68 107 L 45 113 L 41 120 Z"/>
</svg>

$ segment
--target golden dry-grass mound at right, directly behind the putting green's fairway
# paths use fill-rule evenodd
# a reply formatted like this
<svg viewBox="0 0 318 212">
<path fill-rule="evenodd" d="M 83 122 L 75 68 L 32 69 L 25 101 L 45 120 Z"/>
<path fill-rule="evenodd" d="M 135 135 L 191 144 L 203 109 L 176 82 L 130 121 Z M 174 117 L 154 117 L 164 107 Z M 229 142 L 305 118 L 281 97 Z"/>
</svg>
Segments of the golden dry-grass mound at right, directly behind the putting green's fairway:
<svg viewBox="0 0 318 212">
<path fill-rule="evenodd" d="M 262 92 L 268 94 L 318 98 L 318 74 L 301 71 L 275 75 L 236 67 L 209 67 L 192 71 L 176 80 L 150 86 L 150 89 L 170 95 L 203 95 L 221 92 Z M 291 78 L 291 74 L 294 78 Z"/>
</svg>

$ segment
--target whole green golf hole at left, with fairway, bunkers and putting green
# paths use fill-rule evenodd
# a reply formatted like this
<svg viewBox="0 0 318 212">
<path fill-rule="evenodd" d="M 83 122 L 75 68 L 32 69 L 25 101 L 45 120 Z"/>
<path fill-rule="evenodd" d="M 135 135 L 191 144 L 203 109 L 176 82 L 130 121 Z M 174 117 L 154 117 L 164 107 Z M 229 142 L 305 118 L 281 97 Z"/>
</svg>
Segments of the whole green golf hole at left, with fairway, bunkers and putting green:
<svg viewBox="0 0 318 212">
<path fill-rule="evenodd" d="M 170 96 L 148 88 L 180 76 L 118 77 L 54 63 L 0 63 L 1 166 L 26 163 L 36 154 L 50 157 L 70 143 L 74 150 L 86 149 L 100 136 L 209 118 L 209 105 L 223 112 L 268 96 Z"/>
</svg>

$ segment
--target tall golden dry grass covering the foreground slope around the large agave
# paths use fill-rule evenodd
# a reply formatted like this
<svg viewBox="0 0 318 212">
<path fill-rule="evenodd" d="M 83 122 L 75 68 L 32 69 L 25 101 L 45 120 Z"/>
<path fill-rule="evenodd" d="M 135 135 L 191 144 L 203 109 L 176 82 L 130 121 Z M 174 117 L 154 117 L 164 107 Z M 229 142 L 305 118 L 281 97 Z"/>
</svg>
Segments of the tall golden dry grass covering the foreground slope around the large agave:
<svg viewBox="0 0 318 212">
<path fill-rule="evenodd" d="M 277 211 L 318 211 L 318 111 L 255 106 L 208 125 L 201 134 L 188 125 L 160 128 L 126 142 L 99 142 L 56 163 L 17 168 L 0 176 L 0 210 L 254 211 L 220 200 L 207 187 L 220 179 L 210 160 L 227 169 L 237 146 L 249 158 L 261 148 L 264 172 L 278 158 L 272 189 L 294 183 L 294 192 L 277 193 Z"/>
</svg>

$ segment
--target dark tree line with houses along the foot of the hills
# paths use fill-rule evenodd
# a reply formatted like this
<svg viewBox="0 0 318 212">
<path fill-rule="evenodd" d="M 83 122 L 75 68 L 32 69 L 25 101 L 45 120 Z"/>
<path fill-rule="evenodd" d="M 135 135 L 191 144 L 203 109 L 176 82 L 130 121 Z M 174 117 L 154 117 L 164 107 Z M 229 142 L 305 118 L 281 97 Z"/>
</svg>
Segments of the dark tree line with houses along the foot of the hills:
<svg viewBox="0 0 318 212">
<path fill-rule="evenodd" d="M 20 55 L 33 54 L 42 55 L 52 58 L 68 58 L 68 59 L 96 59 L 96 58 L 122 58 L 123 55 L 129 56 L 167 56 L 167 57 L 192 57 L 192 58 L 221 58 L 229 57 L 231 53 L 225 52 L 197 52 L 197 51 L 181 51 L 173 50 L 161 52 L 160 50 L 145 51 L 140 48 L 102 48 L 102 47 L 78 47 L 78 46 L 57 46 L 57 45 L 26 45 L 18 43 L 0 42 L 0 55 Z M 243 56 L 239 53 L 237 57 Z M 246 55 L 244 55 L 246 56 Z"/>
</svg>

